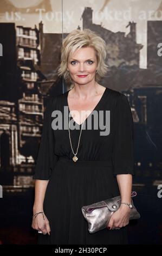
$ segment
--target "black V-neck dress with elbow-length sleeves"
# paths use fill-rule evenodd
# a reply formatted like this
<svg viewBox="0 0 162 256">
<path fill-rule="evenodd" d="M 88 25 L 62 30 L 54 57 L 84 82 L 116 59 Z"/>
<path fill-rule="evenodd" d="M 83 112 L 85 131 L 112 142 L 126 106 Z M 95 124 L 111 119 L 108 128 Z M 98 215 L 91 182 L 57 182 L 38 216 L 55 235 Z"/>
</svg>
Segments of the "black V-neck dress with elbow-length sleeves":
<svg viewBox="0 0 162 256">
<path fill-rule="evenodd" d="M 93 121 L 92 129 L 87 129 L 88 120 L 91 117 L 94 120 L 94 115 L 90 113 L 82 128 L 78 160 L 74 162 L 68 124 L 62 126 L 62 129 L 54 130 L 54 121 L 56 118 L 59 120 L 59 114 L 51 116 L 54 110 L 58 110 L 62 115 L 67 111 L 68 117 L 67 96 L 68 92 L 50 99 L 44 115 L 42 139 L 33 178 L 49 180 L 43 209 L 49 220 L 51 234 L 38 234 L 38 243 L 127 244 L 127 226 L 119 230 L 105 228 L 90 234 L 81 211 L 83 205 L 120 195 L 116 174 L 134 175 L 133 118 L 127 97 L 113 89 L 105 89 L 94 112 L 99 113 L 102 110 L 103 124 L 109 123 L 109 132 L 101 136 L 100 132 L 106 129 L 99 125 L 98 129 L 93 129 Z M 109 119 L 106 113 L 110 113 Z M 106 123 L 106 120 L 109 122 Z M 63 121 L 63 125 L 64 123 L 66 121 Z M 70 125 L 72 123 L 78 129 L 70 129 L 72 147 L 76 153 L 83 123 L 75 123 L 70 116 Z"/>
</svg>

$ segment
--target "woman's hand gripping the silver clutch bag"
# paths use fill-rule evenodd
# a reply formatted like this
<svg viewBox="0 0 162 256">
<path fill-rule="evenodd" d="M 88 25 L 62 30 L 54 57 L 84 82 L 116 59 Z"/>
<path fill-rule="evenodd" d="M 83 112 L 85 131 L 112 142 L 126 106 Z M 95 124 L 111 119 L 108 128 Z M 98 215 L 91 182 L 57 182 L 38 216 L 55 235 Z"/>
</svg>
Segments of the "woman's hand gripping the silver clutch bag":
<svg viewBox="0 0 162 256">
<path fill-rule="evenodd" d="M 108 229 L 119 229 L 128 225 L 131 210 L 132 209 L 125 204 L 120 205 L 120 208 L 112 214 L 107 225 L 107 227 L 109 227 Z"/>
</svg>

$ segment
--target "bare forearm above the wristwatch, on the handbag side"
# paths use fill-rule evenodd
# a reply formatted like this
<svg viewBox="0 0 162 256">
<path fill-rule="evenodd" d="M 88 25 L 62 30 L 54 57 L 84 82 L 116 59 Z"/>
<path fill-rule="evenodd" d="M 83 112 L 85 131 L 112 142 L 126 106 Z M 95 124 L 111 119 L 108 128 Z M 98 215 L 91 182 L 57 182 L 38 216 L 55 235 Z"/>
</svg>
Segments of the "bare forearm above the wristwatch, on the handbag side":
<svg viewBox="0 0 162 256">
<path fill-rule="evenodd" d="M 131 203 L 132 174 L 116 175 L 121 195 L 121 201 Z"/>
</svg>

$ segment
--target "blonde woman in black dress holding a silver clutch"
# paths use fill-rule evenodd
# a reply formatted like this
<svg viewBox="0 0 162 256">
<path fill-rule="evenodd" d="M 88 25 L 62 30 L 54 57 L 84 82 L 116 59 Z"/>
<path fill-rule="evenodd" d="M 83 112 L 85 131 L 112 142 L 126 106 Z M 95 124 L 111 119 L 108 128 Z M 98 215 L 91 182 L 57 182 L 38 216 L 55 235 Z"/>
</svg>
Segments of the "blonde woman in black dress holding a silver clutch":
<svg viewBox="0 0 162 256">
<path fill-rule="evenodd" d="M 121 204 L 108 227 L 94 234 L 81 212 L 83 205 L 119 195 L 131 203 L 132 113 L 124 94 L 99 84 L 107 71 L 105 58 L 105 41 L 89 29 L 75 29 L 63 40 L 58 74 L 71 81 L 73 89 L 50 99 L 44 116 L 32 224 L 41 232 L 39 244 L 128 243 L 128 205 Z M 55 111 L 63 117 L 55 120 Z M 63 125 L 56 130 L 57 121 Z M 109 132 L 101 135 L 105 122 Z"/>
</svg>

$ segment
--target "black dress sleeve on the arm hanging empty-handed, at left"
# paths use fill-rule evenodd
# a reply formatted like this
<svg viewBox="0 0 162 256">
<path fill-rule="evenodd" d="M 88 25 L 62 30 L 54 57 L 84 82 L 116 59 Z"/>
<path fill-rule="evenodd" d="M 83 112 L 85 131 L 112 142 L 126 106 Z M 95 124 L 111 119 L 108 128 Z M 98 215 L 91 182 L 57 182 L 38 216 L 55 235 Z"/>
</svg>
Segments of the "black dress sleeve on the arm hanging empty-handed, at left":
<svg viewBox="0 0 162 256">
<path fill-rule="evenodd" d="M 46 111 L 44 112 L 43 130 L 38 150 L 35 172 L 33 179 L 49 180 L 52 170 L 57 161 L 57 156 L 54 154 L 55 137 L 51 127 L 51 113 L 54 108 L 54 99 L 50 99 L 47 103 Z"/>
</svg>

